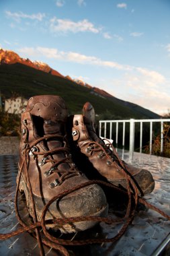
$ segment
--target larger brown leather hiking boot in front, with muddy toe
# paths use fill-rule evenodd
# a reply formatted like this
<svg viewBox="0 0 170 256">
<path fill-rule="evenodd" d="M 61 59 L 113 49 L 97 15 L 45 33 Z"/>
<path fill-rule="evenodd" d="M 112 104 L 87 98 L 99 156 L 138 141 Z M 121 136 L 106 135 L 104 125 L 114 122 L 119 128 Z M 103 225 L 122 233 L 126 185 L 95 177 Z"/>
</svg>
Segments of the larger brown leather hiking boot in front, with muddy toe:
<svg viewBox="0 0 170 256">
<path fill-rule="evenodd" d="M 22 113 L 22 138 L 20 143 L 17 184 L 24 191 L 28 211 L 34 216 L 30 190 L 34 197 L 37 218 L 54 196 L 83 185 L 87 181 L 71 158 L 65 137 L 67 108 L 59 96 L 34 96 Z M 19 178 L 19 174 L 21 174 Z M 31 189 L 29 189 L 29 183 Z M 55 200 L 46 213 L 46 220 L 79 216 L 106 216 L 108 203 L 98 185 L 88 185 Z M 48 227 L 61 232 L 77 232 L 94 226 L 96 222 L 83 221 Z"/>
</svg>

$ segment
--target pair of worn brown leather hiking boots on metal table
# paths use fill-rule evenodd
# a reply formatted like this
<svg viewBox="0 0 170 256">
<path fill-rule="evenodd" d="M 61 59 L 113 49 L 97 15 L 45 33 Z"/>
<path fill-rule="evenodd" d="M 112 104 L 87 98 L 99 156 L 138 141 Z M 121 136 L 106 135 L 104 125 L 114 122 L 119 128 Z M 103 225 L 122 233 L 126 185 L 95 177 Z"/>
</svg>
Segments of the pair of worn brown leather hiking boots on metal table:
<svg viewBox="0 0 170 256">
<path fill-rule="evenodd" d="M 105 193 L 97 184 L 87 185 L 89 179 L 126 189 L 127 177 L 130 177 L 139 195 L 154 189 L 155 182 L 148 170 L 122 162 L 113 146 L 97 136 L 95 112 L 89 102 L 83 107 L 83 115 L 68 117 L 60 96 L 34 96 L 22 113 L 21 129 L 17 186 L 26 195 L 30 215 L 36 215 L 38 221 L 49 201 L 46 220 L 107 216 Z M 48 227 L 77 232 L 94 224 L 96 222 L 87 220 L 60 226 L 53 223 Z"/>
</svg>

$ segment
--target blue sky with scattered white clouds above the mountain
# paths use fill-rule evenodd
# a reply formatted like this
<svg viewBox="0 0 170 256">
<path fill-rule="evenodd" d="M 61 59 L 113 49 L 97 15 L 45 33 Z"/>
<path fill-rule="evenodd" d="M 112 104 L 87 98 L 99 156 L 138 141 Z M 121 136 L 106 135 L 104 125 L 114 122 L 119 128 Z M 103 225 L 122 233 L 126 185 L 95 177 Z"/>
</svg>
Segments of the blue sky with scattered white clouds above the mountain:
<svg viewBox="0 0 170 256">
<path fill-rule="evenodd" d="M 1 48 L 169 113 L 170 0 L 0 0 L 0 24 Z"/>
</svg>

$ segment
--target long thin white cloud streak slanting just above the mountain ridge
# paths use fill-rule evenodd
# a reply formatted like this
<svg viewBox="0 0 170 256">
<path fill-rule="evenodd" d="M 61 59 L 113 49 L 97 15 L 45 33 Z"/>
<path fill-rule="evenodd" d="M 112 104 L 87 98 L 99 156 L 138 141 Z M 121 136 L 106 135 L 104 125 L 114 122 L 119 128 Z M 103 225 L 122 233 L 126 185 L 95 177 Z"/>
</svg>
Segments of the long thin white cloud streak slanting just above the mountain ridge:
<svg viewBox="0 0 170 256">
<path fill-rule="evenodd" d="M 144 69 L 143 67 L 134 67 L 132 65 L 126 65 L 126 64 L 120 64 L 114 61 L 103 61 L 102 59 L 99 59 L 95 56 L 87 56 L 83 55 L 81 53 L 75 53 L 72 51 L 65 52 L 65 51 L 58 51 L 58 49 L 54 48 L 47 48 L 47 47 L 24 47 L 22 49 L 18 49 L 19 53 L 24 53 L 25 55 L 31 55 L 32 57 L 36 56 L 44 56 L 48 59 L 60 59 L 63 61 L 71 61 L 75 63 L 81 63 L 81 64 L 89 64 L 89 65 L 97 65 L 97 66 L 103 66 L 103 67 L 110 67 L 118 70 L 123 71 L 130 71 L 130 72 L 136 72 L 140 77 L 138 78 L 138 81 L 145 81 L 150 82 L 153 87 L 155 87 L 157 84 L 163 84 L 165 82 L 165 77 L 158 73 L 157 71 Z M 134 76 L 133 76 L 134 77 Z M 150 85 L 151 85 L 150 84 Z"/>
</svg>

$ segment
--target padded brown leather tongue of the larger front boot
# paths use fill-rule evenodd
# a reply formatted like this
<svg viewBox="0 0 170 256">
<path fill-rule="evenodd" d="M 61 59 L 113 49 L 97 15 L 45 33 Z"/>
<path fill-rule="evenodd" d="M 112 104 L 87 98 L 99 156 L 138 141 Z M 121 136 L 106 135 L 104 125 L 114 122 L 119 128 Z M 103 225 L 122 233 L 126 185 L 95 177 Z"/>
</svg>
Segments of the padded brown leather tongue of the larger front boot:
<svg viewBox="0 0 170 256">
<path fill-rule="evenodd" d="M 30 98 L 27 110 L 36 117 L 43 119 L 44 135 L 56 135 L 46 140 L 48 150 L 63 147 L 62 138 L 57 135 L 65 135 L 65 123 L 67 121 L 67 107 L 60 96 L 40 95 Z M 36 125 L 38 127 L 38 124 Z M 60 160 L 65 157 L 62 152 L 52 154 L 54 159 Z M 63 164 L 60 164 L 62 168 Z"/>
</svg>

